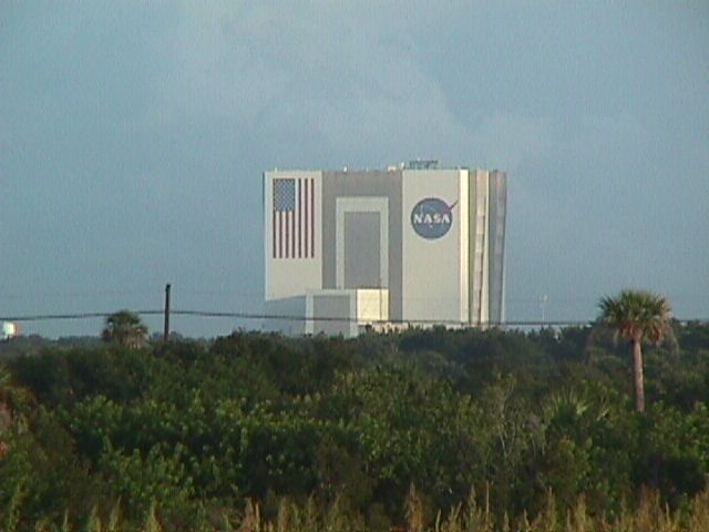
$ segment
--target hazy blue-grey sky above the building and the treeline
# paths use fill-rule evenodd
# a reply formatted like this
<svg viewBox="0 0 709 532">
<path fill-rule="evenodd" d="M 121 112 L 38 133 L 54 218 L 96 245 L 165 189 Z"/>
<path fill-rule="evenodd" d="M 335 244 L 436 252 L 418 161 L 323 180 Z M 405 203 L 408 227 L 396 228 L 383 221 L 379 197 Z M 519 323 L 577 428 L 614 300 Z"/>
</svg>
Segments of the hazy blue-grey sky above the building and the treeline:
<svg viewBox="0 0 709 532">
<path fill-rule="evenodd" d="M 507 172 L 510 320 L 709 319 L 706 0 L 3 1 L 0 317 L 261 313 L 263 172 L 414 158 Z"/>
</svg>

